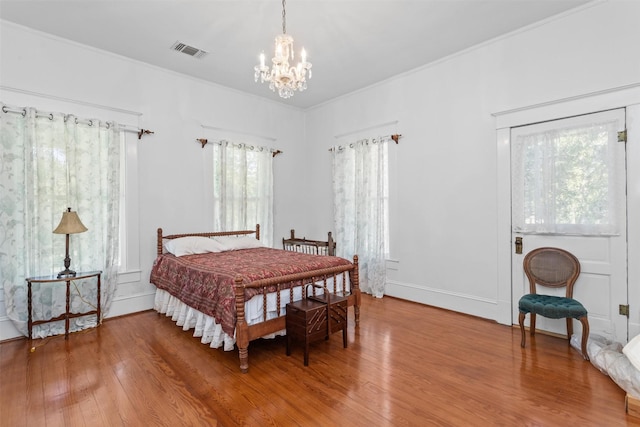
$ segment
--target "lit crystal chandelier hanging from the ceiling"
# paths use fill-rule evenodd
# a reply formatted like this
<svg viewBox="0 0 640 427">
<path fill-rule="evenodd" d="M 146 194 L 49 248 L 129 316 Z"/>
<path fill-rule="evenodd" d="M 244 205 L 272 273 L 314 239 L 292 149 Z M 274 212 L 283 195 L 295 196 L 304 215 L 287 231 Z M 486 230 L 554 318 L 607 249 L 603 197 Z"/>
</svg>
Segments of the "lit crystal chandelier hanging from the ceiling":
<svg viewBox="0 0 640 427">
<path fill-rule="evenodd" d="M 269 89 L 278 90 L 282 98 L 290 98 L 296 90 L 302 92 L 307 88 L 307 71 L 311 78 L 311 63 L 307 62 L 307 53 L 304 48 L 300 54 L 301 61 L 294 66 L 289 65 L 289 59 L 293 61 L 293 38 L 287 34 L 287 14 L 285 12 L 285 0 L 282 0 L 282 34 L 276 36 L 275 56 L 271 59 L 271 70 L 265 65 L 264 52 L 260 54 L 260 65 L 255 66 L 255 80 L 269 82 Z"/>
</svg>

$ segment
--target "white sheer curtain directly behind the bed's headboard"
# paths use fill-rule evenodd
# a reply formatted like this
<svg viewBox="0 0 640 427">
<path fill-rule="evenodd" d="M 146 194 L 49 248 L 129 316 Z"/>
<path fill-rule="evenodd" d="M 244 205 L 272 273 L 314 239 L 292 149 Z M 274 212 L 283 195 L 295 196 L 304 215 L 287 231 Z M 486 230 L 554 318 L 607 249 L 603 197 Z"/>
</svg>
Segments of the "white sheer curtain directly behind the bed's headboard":
<svg viewBox="0 0 640 427">
<path fill-rule="evenodd" d="M 223 140 L 213 145 L 214 229 L 252 230 L 273 243 L 273 150 Z"/>
</svg>

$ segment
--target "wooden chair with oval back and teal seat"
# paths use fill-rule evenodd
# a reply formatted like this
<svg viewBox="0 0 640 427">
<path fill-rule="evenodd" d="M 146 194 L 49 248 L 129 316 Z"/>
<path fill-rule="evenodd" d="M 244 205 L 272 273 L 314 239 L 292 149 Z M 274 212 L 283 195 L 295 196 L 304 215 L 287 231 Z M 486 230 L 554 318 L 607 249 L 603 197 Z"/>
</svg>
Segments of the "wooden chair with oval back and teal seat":
<svg viewBox="0 0 640 427">
<path fill-rule="evenodd" d="M 580 275 L 580 262 L 571 253 L 560 248 L 538 248 L 529 252 L 523 261 L 524 272 L 529 279 L 529 293 L 518 302 L 518 323 L 524 348 L 526 334 L 524 320 L 530 314 L 529 332 L 536 333 L 536 315 L 550 319 L 567 321 L 567 339 L 573 334 L 573 319 L 582 324 L 582 357 L 589 360 L 587 341 L 589 339 L 589 320 L 587 309 L 573 299 L 573 285 Z M 565 296 L 545 295 L 537 292 L 538 286 L 547 288 L 566 288 Z"/>
</svg>

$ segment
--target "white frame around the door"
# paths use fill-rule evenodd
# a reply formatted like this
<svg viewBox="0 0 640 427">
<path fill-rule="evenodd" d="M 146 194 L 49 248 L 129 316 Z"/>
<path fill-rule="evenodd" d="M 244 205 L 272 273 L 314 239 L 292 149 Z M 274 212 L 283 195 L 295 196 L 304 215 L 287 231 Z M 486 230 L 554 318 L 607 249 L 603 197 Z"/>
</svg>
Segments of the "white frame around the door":
<svg viewBox="0 0 640 427">
<path fill-rule="evenodd" d="M 640 83 L 494 113 L 496 119 L 497 307 L 496 321 L 512 325 L 511 128 L 592 112 L 627 110 L 627 288 L 629 339 L 640 334 Z"/>
</svg>

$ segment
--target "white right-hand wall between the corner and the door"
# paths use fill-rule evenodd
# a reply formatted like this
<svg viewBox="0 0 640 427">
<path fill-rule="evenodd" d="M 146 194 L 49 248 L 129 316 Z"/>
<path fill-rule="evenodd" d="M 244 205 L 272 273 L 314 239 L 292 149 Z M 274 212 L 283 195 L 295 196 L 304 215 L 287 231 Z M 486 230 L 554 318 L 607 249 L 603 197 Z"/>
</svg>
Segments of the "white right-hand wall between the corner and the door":
<svg viewBox="0 0 640 427">
<path fill-rule="evenodd" d="M 510 294 L 498 285 L 498 257 L 511 249 L 508 234 L 497 238 L 510 224 L 498 212 L 492 114 L 640 84 L 639 18 L 640 2 L 591 4 L 308 111 L 309 158 L 318 160 L 309 201 L 331 200 L 336 135 L 397 120 L 387 294 L 510 323 Z M 630 162 L 631 177 L 639 165 Z M 629 185 L 638 192 L 637 179 Z M 316 214 L 330 227 L 330 209 Z M 630 232 L 640 227 L 639 216 L 629 221 Z"/>
</svg>

